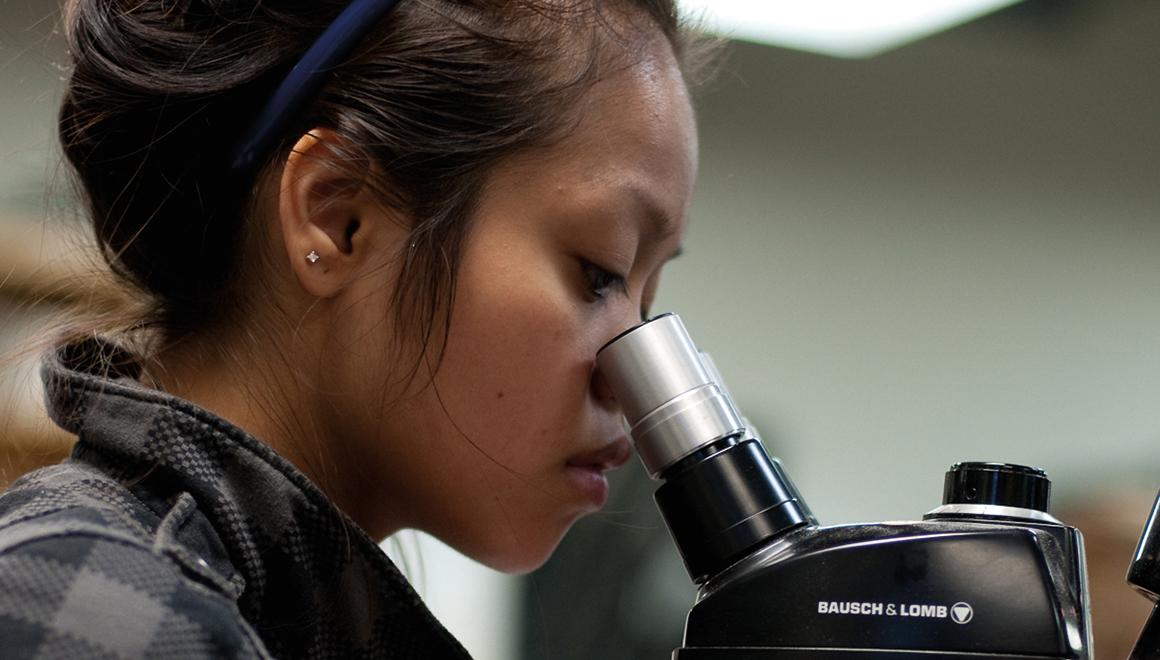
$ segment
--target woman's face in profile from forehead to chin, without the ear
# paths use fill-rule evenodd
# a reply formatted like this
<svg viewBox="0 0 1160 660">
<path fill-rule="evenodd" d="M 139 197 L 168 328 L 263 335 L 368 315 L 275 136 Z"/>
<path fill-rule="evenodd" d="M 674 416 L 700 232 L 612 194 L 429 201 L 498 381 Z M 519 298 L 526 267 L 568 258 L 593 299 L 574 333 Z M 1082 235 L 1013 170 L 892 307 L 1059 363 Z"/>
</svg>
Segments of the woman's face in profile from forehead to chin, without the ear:
<svg viewBox="0 0 1160 660">
<path fill-rule="evenodd" d="M 662 38 L 578 113 L 564 140 L 493 172 L 434 379 L 358 434 L 363 471 L 382 476 L 364 492 L 394 529 L 503 571 L 541 565 L 630 456 L 594 357 L 651 304 L 696 175 L 694 115 Z"/>
</svg>

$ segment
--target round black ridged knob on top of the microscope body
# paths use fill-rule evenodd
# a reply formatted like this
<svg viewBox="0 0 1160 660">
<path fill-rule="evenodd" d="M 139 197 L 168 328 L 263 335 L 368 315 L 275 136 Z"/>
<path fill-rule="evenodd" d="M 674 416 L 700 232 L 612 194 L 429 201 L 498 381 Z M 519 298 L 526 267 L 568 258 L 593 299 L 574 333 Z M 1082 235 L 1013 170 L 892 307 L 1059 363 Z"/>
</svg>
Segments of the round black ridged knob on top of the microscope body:
<svg viewBox="0 0 1160 660">
<path fill-rule="evenodd" d="M 1013 507 L 1047 513 L 1051 480 L 1038 467 L 956 463 L 943 481 L 943 505 Z"/>
</svg>

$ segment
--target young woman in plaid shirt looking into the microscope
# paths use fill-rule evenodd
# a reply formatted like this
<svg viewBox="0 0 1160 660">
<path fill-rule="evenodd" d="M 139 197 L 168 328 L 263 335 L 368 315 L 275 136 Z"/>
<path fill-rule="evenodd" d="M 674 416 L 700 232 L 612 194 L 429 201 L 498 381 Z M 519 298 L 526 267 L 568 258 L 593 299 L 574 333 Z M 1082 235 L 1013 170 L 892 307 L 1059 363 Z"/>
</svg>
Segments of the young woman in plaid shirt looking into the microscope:
<svg viewBox="0 0 1160 660">
<path fill-rule="evenodd" d="M 530 571 L 628 459 L 697 145 L 666 0 L 75 0 L 65 155 L 140 310 L 46 358 L 6 657 L 465 655 L 374 539 Z"/>
</svg>

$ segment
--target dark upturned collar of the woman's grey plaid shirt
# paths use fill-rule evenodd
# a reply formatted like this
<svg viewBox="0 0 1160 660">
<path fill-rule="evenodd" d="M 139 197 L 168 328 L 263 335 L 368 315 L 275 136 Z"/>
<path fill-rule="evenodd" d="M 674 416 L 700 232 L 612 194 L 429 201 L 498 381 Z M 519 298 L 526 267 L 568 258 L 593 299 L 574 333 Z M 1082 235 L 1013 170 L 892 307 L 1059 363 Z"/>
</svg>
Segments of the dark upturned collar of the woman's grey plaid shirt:
<svg viewBox="0 0 1160 660">
<path fill-rule="evenodd" d="M 245 580 L 248 621 L 317 638 L 329 619 L 365 648 L 384 617 L 416 617 L 408 634 L 427 630 L 432 644 L 462 653 L 382 549 L 305 474 L 217 415 L 145 387 L 139 364 L 107 339 L 57 348 L 42 367 L 49 414 L 78 435 L 75 458 L 100 457 L 152 496 L 193 495 Z M 296 653 L 311 645 L 296 644 Z"/>
</svg>

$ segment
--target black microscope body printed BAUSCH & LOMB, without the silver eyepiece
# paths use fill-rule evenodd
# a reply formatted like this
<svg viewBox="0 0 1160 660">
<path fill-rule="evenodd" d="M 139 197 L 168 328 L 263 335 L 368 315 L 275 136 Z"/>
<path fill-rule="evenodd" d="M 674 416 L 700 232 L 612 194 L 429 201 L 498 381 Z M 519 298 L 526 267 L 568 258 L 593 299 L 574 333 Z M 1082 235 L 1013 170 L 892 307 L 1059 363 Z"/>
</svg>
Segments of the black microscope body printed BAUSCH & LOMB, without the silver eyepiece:
<svg viewBox="0 0 1160 660">
<path fill-rule="evenodd" d="M 726 452 L 748 456 L 739 462 Z M 781 493 L 737 488 L 742 481 L 777 484 L 784 476 L 756 441 L 730 447 L 716 460 L 733 463 L 724 470 L 733 476 L 748 470 L 751 477 L 766 472 L 773 479 L 738 479 L 733 493 L 741 496 L 717 495 L 737 502 L 737 515 L 691 524 L 697 516 L 689 515 L 690 499 L 668 491 L 696 492 L 715 478 L 674 476 L 658 491 L 662 515 L 701 586 L 674 659 L 1089 657 L 1079 531 L 1047 516 L 985 513 L 1037 510 L 1002 498 L 1028 494 L 1009 480 L 1041 481 L 1046 494 L 1042 473 L 959 464 L 948 472 L 942 513 L 919 522 L 818 527 L 798 508 L 792 485 Z M 720 471 L 713 462 L 710 457 L 699 469 Z M 748 466 L 739 470 L 738 463 Z M 989 478 L 993 487 L 964 485 L 970 478 Z M 781 501 L 770 508 L 774 500 Z M 741 549 L 739 538 L 755 543 Z"/>
</svg>

